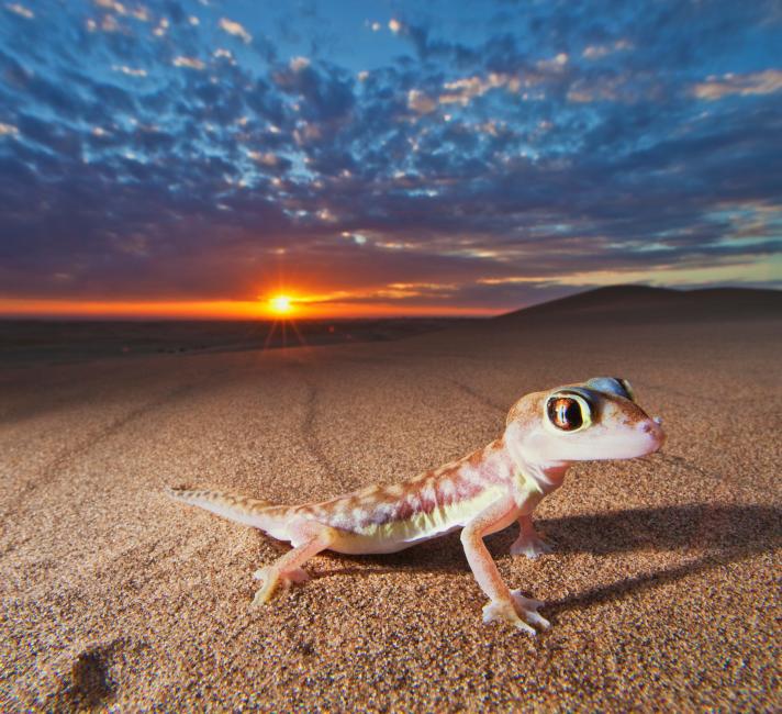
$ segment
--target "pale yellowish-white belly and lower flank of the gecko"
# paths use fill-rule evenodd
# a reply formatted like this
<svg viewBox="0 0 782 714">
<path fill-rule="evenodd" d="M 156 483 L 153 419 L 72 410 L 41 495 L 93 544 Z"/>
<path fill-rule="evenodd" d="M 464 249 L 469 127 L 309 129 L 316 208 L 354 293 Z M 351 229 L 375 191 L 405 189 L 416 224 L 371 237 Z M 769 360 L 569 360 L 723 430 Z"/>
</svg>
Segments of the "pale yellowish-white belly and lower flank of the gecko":
<svg viewBox="0 0 782 714">
<path fill-rule="evenodd" d="M 499 487 L 483 489 L 471 499 L 437 505 L 432 511 L 413 513 L 406 518 L 368 522 L 351 527 L 329 523 L 338 532 L 329 550 L 351 555 L 398 553 L 463 527 L 477 513 L 505 493 L 506 490 Z"/>
</svg>

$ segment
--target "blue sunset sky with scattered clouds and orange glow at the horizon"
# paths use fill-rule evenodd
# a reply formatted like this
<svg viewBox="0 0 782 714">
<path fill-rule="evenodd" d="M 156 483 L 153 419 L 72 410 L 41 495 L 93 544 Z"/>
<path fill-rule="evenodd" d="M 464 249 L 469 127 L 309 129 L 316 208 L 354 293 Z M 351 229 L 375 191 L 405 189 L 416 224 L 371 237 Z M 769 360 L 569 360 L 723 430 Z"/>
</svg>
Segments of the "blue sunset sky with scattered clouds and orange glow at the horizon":
<svg viewBox="0 0 782 714">
<path fill-rule="evenodd" d="M 775 0 L 0 3 L 0 315 L 495 314 L 781 248 Z"/>
</svg>

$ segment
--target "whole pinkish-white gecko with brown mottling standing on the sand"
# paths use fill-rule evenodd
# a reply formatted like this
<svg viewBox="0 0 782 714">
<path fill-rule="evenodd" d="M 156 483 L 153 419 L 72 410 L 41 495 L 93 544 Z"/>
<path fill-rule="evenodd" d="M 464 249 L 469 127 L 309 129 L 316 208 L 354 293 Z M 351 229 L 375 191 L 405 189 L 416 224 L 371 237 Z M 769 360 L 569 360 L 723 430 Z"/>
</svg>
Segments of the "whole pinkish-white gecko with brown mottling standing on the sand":
<svg viewBox="0 0 782 714">
<path fill-rule="evenodd" d="M 167 493 L 291 544 L 290 551 L 255 572 L 260 581 L 255 605 L 268 603 L 280 587 L 308 580 L 302 566 L 322 550 L 396 553 L 461 528 L 467 561 L 489 598 L 483 622 L 509 623 L 535 635 L 535 626 L 549 627 L 538 612 L 544 603 L 509 589 L 483 538 L 518 522 L 511 554 L 536 558 L 549 553 L 532 513 L 562 484 L 570 466 L 645 456 L 664 439 L 661 420 L 637 404 L 629 381 L 594 377 L 522 397 L 498 439 L 401 483 L 304 505 L 276 505 L 227 491 L 177 488 Z"/>
</svg>

